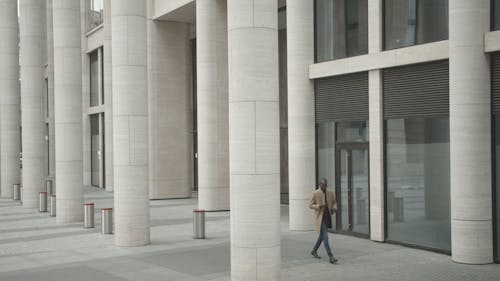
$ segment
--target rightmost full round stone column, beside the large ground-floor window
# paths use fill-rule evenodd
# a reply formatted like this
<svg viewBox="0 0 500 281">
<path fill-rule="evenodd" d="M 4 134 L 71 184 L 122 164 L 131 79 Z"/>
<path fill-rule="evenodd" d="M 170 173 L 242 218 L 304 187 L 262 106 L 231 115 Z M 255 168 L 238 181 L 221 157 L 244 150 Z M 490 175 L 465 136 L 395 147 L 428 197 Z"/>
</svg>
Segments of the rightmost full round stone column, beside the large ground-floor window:
<svg viewBox="0 0 500 281">
<path fill-rule="evenodd" d="M 493 261 L 489 0 L 450 1 L 450 177 L 453 261 Z"/>
</svg>

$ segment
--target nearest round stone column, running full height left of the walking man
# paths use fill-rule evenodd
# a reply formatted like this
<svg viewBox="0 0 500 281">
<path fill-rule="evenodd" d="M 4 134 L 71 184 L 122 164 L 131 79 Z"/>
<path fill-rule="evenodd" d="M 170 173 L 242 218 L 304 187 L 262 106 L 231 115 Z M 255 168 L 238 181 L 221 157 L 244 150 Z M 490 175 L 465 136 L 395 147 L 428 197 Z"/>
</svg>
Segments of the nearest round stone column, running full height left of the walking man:
<svg viewBox="0 0 500 281">
<path fill-rule="evenodd" d="M 280 280 L 278 2 L 228 1 L 231 280 Z"/>
</svg>

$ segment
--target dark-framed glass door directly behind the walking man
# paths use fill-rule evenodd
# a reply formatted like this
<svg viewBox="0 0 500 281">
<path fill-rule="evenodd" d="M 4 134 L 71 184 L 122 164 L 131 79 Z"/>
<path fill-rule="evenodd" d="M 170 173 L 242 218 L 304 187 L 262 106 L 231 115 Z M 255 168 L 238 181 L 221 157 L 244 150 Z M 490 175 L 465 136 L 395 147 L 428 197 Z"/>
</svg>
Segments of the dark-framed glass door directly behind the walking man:
<svg viewBox="0 0 500 281">
<path fill-rule="evenodd" d="M 338 145 L 337 157 L 336 230 L 368 235 L 368 147 L 364 144 Z"/>
</svg>

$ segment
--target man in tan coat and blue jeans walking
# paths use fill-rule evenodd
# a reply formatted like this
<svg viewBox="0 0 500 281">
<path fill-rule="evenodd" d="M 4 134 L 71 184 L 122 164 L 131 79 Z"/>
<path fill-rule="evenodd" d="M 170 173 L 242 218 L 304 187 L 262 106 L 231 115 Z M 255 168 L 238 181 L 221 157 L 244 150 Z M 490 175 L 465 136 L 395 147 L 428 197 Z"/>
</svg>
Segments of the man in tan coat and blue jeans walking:
<svg viewBox="0 0 500 281">
<path fill-rule="evenodd" d="M 320 258 L 317 251 L 321 242 L 323 242 L 326 252 L 330 257 L 330 263 L 336 263 L 337 259 L 333 256 L 330 244 L 328 243 L 328 228 L 332 227 L 332 214 L 337 209 L 337 203 L 333 192 L 327 191 L 326 187 L 327 181 L 325 178 L 322 178 L 319 182 L 319 188 L 316 188 L 312 194 L 311 204 L 309 205 L 309 208 L 315 211 L 316 230 L 319 231 L 319 237 L 311 255 L 317 259 Z"/>
</svg>

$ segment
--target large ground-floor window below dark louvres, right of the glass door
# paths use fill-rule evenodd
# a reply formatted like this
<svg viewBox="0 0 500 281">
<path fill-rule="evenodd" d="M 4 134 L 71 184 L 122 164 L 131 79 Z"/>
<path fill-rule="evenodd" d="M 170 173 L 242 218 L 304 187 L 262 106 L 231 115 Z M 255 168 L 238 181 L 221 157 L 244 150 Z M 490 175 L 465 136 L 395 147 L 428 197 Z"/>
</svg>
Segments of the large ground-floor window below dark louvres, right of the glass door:
<svg viewBox="0 0 500 281">
<path fill-rule="evenodd" d="M 388 239 L 451 250 L 449 117 L 386 121 Z"/>
</svg>

